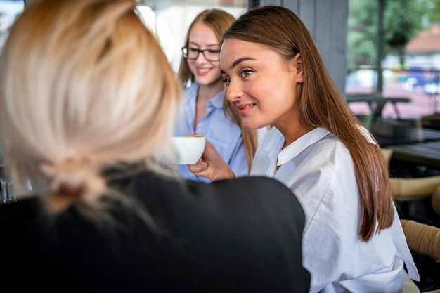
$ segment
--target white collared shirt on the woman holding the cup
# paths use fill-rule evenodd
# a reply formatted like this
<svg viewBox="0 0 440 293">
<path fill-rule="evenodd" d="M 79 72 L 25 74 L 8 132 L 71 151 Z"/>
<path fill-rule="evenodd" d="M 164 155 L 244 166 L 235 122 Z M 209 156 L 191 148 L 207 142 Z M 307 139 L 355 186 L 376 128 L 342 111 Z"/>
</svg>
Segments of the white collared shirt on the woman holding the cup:
<svg viewBox="0 0 440 293">
<path fill-rule="evenodd" d="M 363 207 L 345 145 L 323 128 L 281 150 L 284 142 L 278 129 L 268 131 L 250 175 L 276 178 L 299 198 L 306 214 L 302 249 L 310 292 L 401 292 L 403 263 L 419 280 L 395 208 L 390 228 L 369 242 L 359 237 Z"/>
</svg>

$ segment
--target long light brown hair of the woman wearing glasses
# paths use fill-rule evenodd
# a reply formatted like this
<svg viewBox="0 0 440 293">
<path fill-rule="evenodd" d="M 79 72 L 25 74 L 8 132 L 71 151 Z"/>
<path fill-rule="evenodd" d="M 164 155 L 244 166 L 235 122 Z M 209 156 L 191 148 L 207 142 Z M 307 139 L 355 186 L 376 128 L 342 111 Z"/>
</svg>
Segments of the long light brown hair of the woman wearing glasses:
<svg viewBox="0 0 440 293">
<path fill-rule="evenodd" d="M 190 27 L 188 28 L 184 46 L 188 46 L 189 34 L 195 23 L 202 22 L 204 25 L 207 25 L 207 27 L 211 28 L 214 34 L 216 34 L 216 37 L 220 41 L 222 34 L 228 29 L 234 20 L 235 17 L 233 15 L 217 8 L 206 9 L 205 11 L 200 12 L 194 18 L 193 22 L 191 22 Z M 184 58 L 181 59 L 178 76 L 181 79 L 182 86 L 187 86 L 188 84 L 194 82 L 194 74 L 190 71 L 188 62 Z M 247 166 L 250 170 L 252 159 L 254 159 L 255 150 L 257 150 L 257 131 L 247 130 L 241 126 L 240 115 L 238 115 L 235 107 L 233 107 L 231 103 L 226 100 L 226 87 L 224 88 L 223 110 L 225 116 L 233 123 L 237 124 L 241 129 L 241 136 L 243 139 L 243 144 L 245 145 L 247 157 Z"/>
</svg>

